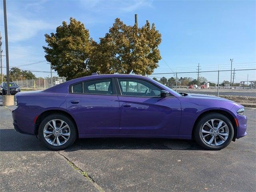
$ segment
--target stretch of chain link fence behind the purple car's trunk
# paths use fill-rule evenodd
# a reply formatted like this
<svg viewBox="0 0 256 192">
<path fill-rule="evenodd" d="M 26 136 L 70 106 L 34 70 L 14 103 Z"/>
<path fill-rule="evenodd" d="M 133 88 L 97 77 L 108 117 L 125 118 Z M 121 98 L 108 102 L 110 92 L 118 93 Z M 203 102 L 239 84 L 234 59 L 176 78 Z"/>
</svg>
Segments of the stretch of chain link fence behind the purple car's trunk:
<svg viewBox="0 0 256 192">
<path fill-rule="evenodd" d="M 20 86 L 21 89 L 28 90 L 44 90 L 55 86 L 57 84 L 65 82 L 64 78 L 36 78 L 36 79 L 24 79 L 24 80 L 12 80 Z"/>
</svg>

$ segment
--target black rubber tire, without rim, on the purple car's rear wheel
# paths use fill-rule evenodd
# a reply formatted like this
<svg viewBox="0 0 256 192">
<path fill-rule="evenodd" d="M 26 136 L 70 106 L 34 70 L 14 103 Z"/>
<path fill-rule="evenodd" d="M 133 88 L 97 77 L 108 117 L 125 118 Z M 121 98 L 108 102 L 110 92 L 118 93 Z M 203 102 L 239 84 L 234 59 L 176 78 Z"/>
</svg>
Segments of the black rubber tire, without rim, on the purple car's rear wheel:
<svg viewBox="0 0 256 192">
<path fill-rule="evenodd" d="M 68 141 L 66 141 L 66 143 L 60 145 L 60 146 L 54 146 L 50 143 L 48 143 L 46 141 L 46 139 L 44 138 L 44 126 L 51 120 L 54 119 L 58 119 L 58 120 L 63 120 L 64 122 L 66 122 L 66 124 L 68 124 L 69 128 L 70 128 L 70 137 L 68 138 Z M 46 146 L 49 149 L 52 150 L 63 150 L 65 148 L 70 147 L 75 141 L 76 138 L 78 137 L 78 133 L 77 133 L 77 129 L 76 126 L 74 124 L 74 122 L 68 117 L 65 116 L 63 114 L 51 114 L 49 116 L 47 116 L 46 118 L 44 118 L 44 120 L 42 120 L 42 122 L 39 125 L 38 128 L 38 138 L 39 140 L 44 144 L 44 146 Z"/>
</svg>

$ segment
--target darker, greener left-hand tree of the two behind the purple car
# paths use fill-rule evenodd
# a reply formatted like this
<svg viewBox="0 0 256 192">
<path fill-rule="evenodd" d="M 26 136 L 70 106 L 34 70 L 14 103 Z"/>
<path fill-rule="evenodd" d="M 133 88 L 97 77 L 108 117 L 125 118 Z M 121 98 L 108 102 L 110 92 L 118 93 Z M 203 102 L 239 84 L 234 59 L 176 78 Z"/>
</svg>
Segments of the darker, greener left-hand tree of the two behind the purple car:
<svg viewBox="0 0 256 192">
<path fill-rule="evenodd" d="M 69 24 L 63 21 L 56 33 L 45 34 L 45 40 L 45 58 L 59 76 L 70 80 L 90 73 L 88 62 L 94 41 L 82 22 L 74 18 L 70 18 Z"/>
</svg>

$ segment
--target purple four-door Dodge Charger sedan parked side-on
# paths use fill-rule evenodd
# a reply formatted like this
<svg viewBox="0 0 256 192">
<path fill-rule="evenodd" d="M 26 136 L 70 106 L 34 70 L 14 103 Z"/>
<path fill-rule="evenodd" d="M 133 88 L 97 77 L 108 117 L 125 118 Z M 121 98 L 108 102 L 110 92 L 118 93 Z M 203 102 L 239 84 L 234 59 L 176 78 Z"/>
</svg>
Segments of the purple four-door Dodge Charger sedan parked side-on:
<svg viewBox="0 0 256 192">
<path fill-rule="evenodd" d="M 246 135 L 244 107 L 206 95 L 177 93 L 137 75 L 92 75 L 43 91 L 19 92 L 16 131 L 62 150 L 77 138 L 194 139 L 220 150 Z"/>
</svg>

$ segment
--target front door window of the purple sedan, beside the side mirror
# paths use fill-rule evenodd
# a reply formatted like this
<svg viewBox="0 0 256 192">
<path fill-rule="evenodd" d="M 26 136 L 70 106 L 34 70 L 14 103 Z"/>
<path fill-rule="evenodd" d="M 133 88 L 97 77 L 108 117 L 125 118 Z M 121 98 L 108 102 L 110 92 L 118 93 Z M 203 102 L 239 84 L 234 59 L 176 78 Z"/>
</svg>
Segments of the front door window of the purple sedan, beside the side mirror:
<svg viewBox="0 0 256 192">
<path fill-rule="evenodd" d="M 122 95 L 160 97 L 161 89 L 140 79 L 118 79 Z"/>
</svg>

